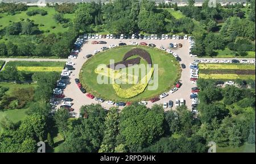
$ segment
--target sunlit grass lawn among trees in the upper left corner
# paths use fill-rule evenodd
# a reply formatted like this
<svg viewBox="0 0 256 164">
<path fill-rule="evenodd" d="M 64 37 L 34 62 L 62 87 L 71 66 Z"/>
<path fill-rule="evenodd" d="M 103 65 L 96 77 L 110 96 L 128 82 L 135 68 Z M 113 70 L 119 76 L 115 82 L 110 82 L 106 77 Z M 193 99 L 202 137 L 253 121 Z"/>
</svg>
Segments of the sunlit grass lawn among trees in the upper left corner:
<svg viewBox="0 0 256 164">
<path fill-rule="evenodd" d="M 27 11 L 35 10 L 35 9 L 39 9 L 39 8 L 46 10 L 47 15 L 42 16 L 42 15 L 37 14 L 34 16 L 28 16 L 26 14 Z M 15 15 L 8 15 L 7 13 L 0 13 L 0 25 L 1 25 L 0 30 L 9 26 L 9 24 L 11 22 L 20 22 L 21 21 L 20 19 L 24 19 L 24 21 L 26 21 L 26 19 L 28 18 L 30 20 L 34 20 L 34 24 L 38 25 L 38 28 L 40 31 L 46 31 L 46 30 L 50 31 L 45 34 L 68 31 L 68 28 L 61 27 L 61 24 L 56 23 L 55 20 L 53 19 L 53 15 L 56 13 L 56 11 L 53 7 L 44 7 L 44 8 L 28 7 L 27 11 L 21 11 L 19 14 L 15 14 Z M 64 14 L 64 18 L 72 20 L 73 14 Z M 44 26 L 40 26 L 40 24 L 43 24 Z M 55 26 L 55 28 L 51 28 L 51 26 Z M 15 39 L 13 37 L 15 37 Z M 23 39 L 30 39 L 30 37 L 32 37 L 32 36 L 26 36 L 26 35 L 4 36 L 2 39 L 0 39 L 0 42 L 5 41 L 5 39 L 7 39 L 7 40 L 13 41 L 13 43 L 20 43 L 21 42 L 20 39 L 22 39 L 22 37 L 23 37 Z"/>
</svg>

